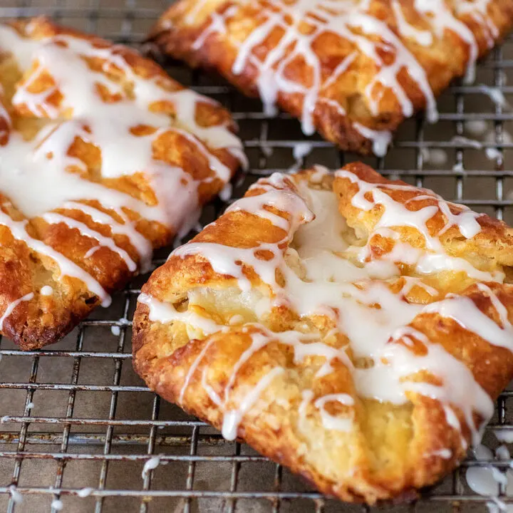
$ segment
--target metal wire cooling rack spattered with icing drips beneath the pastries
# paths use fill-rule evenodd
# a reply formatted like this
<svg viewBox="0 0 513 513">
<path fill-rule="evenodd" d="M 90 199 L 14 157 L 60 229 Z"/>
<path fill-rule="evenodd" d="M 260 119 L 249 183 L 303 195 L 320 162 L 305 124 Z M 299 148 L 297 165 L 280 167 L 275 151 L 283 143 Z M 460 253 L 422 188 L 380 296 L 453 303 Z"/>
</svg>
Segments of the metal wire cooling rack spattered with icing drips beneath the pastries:
<svg viewBox="0 0 513 513">
<path fill-rule="evenodd" d="M 140 46 L 167 6 L 163 0 L 0 0 L 0 18 L 45 14 L 57 21 Z M 216 98 L 234 113 L 250 161 L 234 183 L 234 197 L 262 175 L 314 163 L 339 167 L 356 160 L 320 138 L 306 139 L 287 115 L 268 118 L 212 76 L 164 63 L 172 76 Z M 440 98 L 440 121 L 421 116 L 405 123 L 383 159 L 370 158 L 384 175 L 430 187 L 499 219 L 513 221 L 513 112 L 494 102 L 484 86 L 506 99 L 513 87 L 513 39 L 480 64 L 472 86 L 457 84 Z M 513 82 L 512 82 L 513 83 Z M 467 139 L 465 139 L 467 138 Z M 472 140 L 470 140 L 470 139 Z M 309 150 L 301 157 L 294 148 Z M 204 209 L 203 224 L 226 207 Z M 166 252 L 159 255 L 162 258 Z M 227 442 L 211 427 L 150 393 L 131 365 L 131 322 L 140 276 L 117 294 L 108 309 L 54 346 L 19 351 L 0 343 L 0 511 L 58 512 L 362 512 L 327 499 L 286 469 L 246 445 Z M 497 447 L 494 432 L 511 432 L 505 391 L 484 440 Z M 158 460 L 151 459 L 158 455 Z M 142 472 L 145 463 L 159 463 Z M 467 460 L 452 476 L 427 490 L 415 504 L 393 512 L 484 512 L 487 497 L 467 487 L 465 469 L 509 461 Z M 147 465 L 148 466 L 148 465 Z M 152 467 L 154 465 L 150 465 Z M 500 487 L 500 499 L 513 501 Z M 510 490 L 513 492 L 513 490 Z M 20 495 L 23 499 L 20 502 Z"/>
</svg>

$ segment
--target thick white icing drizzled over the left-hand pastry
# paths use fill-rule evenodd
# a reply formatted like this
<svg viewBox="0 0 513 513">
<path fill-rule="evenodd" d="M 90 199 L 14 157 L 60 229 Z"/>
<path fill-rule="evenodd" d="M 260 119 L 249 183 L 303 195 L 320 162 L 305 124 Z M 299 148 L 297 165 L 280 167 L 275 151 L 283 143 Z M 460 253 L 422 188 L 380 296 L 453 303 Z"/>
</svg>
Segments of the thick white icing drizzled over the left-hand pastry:
<svg viewBox="0 0 513 513">
<path fill-rule="evenodd" d="M 33 26 L 29 23 L 26 30 L 30 33 L 31 29 Z M 199 185 L 214 179 L 229 180 L 230 170 L 212 150 L 224 148 L 245 162 L 242 143 L 227 126 L 204 127 L 197 123 L 197 106 L 214 104 L 212 100 L 191 90 L 168 90 L 166 78 L 161 76 L 138 76 L 125 61 L 123 47 L 102 48 L 95 41 L 68 35 L 32 41 L 20 36 L 14 28 L 0 26 L 0 51 L 11 52 L 22 71 L 36 66 L 31 79 L 16 87 L 13 105 L 24 106 L 36 117 L 49 118 L 33 140 L 24 140 L 20 133 L 12 131 L 9 143 L 0 146 L 0 190 L 26 217 L 41 216 L 51 224 L 64 223 L 95 239 L 97 244 L 91 247 L 86 258 L 92 257 L 100 247 L 108 247 L 125 261 L 130 272 L 137 271 L 135 260 L 113 240 L 113 236 L 123 235 L 137 252 L 140 269 L 149 270 L 152 244 L 138 232 L 124 209 L 180 232 L 197 216 Z M 91 58 L 103 60 L 101 71 L 89 68 L 86 59 Z M 43 71 L 51 75 L 56 86 L 42 93 L 32 93 L 31 84 Z M 112 71 L 123 73 L 123 81 L 132 88 L 131 96 L 123 85 L 110 78 Z M 171 86 L 175 87 L 174 83 Z M 117 99 L 105 102 L 99 87 L 118 95 Z M 58 108 L 48 101 L 56 91 L 63 98 Z M 175 113 L 170 116 L 153 112 L 152 105 L 156 102 L 172 105 Z M 68 115 L 63 115 L 63 110 L 71 112 L 72 118 L 66 119 Z M 0 115 L 11 124 L 5 108 L 2 107 Z M 135 135 L 133 130 L 140 126 L 152 128 L 152 133 Z M 179 167 L 155 160 L 152 145 L 167 133 L 185 138 L 193 145 L 207 159 L 212 177 L 193 180 Z M 100 150 L 100 177 L 118 179 L 144 172 L 157 196 L 157 204 L 147 205 L 111 185 L 107 187 L 84 177 L 84 173 L 88 174 L 86 164 L 69 155 L 77 138 Z M 113 214 L 84 204 L 83 200 L 99 202 L 104 209 L 114 211 L 121 221 Z M 87 214 L 93 222 L 107 225 L 110 235 L 104 236 L 66 214 L 51 212 L 57 208 Z M 14 222 L 1 213 L 0 224 L 11 229 L 16 239 L 23 240 L 34 251 L 55 260 L 61 276 L 80 279 L 100 297 L 104 306 L 109 303 L 108 294 L 90 274 L 43 242 L 28 237 L 24 223 Z"/>
</svg>

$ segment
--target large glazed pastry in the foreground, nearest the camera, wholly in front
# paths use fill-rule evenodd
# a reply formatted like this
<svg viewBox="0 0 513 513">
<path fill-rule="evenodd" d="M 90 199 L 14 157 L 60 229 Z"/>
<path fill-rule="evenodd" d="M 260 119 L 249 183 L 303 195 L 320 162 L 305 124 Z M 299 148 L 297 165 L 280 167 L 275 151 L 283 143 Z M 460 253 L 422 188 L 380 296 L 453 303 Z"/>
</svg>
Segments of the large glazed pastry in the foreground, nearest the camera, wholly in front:
<svg viewBox="0 0 513 513">
<path fill-rule="evenodd" d="M 513 377 L 513 230 L 353 163 L 274 174 L 142 288 L 136 371 L 327 494 L 406 499 Z"/>
</svg>

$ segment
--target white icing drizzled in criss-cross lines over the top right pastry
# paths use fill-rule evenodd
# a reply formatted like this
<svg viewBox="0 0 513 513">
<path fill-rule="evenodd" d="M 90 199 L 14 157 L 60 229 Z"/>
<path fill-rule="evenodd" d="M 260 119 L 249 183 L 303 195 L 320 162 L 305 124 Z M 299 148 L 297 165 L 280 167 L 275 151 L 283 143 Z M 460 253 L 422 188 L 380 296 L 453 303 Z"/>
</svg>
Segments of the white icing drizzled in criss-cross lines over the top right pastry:
<svg viewBox="0 0 513 513">
<path fill-rule="evenodd" d="M 204 1 L 197 2 L 195 9 L 187 15 L 186 21 L 193 23 L 195 16 L 201 11 Z M 237 15 L 242 6 L 247 6 L 248 0 L 239 0 L 224 12 L 214 12 L 207 25 L 199 35 L 192 48 L 201 48 L 212 34 L 227 33 L 227 22 Z M 306 135 L 314 133 L 314 109 L 316 105 L 326 103 L 338 110 L 342 116 L 346 110 L 341 103 L 331 98 L 329 88 L 336 83 L 356 58 L 359 52 L 369 58 L 377 67 L 377 73 L 368 83 L 364 92 L 368 108 L 373 115 L 378 113 L 378 107 L 383 98 L 383 89 L 393 92 L 395 99 L 405 117 L 413 115 L 413 104 L 401 85 L 398 75 L 406 70 L 410 79 L 415 82 L 425 98 L 427 119 L 437 120 L 435 97 L 423 67 L 405 41 L 414 41 L 424 47 L 432 46 L 436 39 L 442 38 L 445 31 L 455 33 L 468 47 L 466 79 L 469 82 L 475 78 L 475 63 L 478 56 L 478 46 L 474 34 L 457 16 L 470 16 L 487 37 L 488 46 L 494 45 L 498 36 L 497 27 L 489 18 L 487 7 L 489 0 L 469 2 L 455 1 L 450 7 L 444 0 L 414 0 L 413 7 L 423 15 L 429 30 L 420 30 L 408 23 L 403 8 L 398 0 L 393 0 L 391 6 L 395 17 L 395 31 L 388 24 L 371 16 L 371 0 L 339 1 L 339 0 L 271 0 L 259 2 L 262 9 L 261 22 L 247 37 L 234 42 L 237 48 L 237 58 L 232 65 L 232 73 L 240 75 L 247 68 L 257 71 L 257 88 L 264 103 L 267 114 L 276 112 L 276 100 L 280 93 L 300 94 L 304 98 L 301 114 L 301 125 Z M 306 30 L 306 26 L 309 30 Z M 263 44 L 271 34 L 282 31 L 279 42 L 261 59 L 255 50 Z M 323 69 L 314 43 L 325 33 L 336 34 L 343 41 L 349 41 L 355 46 L 355 51 L 338 63 L 330 73 Z M 376 36 L 380 39 L 375 41 Z M 374 39 L 373 39 L 374 38 Z M 401 39 L 402 38 L 402 39 Z M 393 53 L 391 63 L 385 62 L 380 52 Z M 294 61 L 303 59 L 310 69 L 310 85 L 289 78 L 287 70 Z M 373 130 L 354 122 L 353 128 L 363 137 L 373 142 L 375 155 L 383 156 L 390 144 L 391 134 L 387 131 Z"/>
</svg>

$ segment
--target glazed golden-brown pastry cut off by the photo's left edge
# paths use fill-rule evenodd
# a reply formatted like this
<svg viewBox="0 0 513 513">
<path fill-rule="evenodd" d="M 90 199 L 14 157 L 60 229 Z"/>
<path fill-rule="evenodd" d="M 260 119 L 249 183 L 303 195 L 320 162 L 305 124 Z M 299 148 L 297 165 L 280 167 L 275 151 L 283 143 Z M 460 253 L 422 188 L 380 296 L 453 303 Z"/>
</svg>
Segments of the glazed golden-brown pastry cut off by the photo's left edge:
<svg viewBox="0 0 513 513">
<path fill-rule="evenodd" d="M 0 331 L 56 341 L 149 269 L 242 160 L 226 110 L 125 46 L 0 26 Z"/>
</svg>

